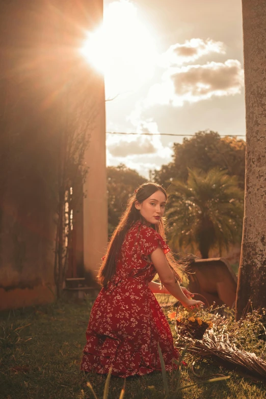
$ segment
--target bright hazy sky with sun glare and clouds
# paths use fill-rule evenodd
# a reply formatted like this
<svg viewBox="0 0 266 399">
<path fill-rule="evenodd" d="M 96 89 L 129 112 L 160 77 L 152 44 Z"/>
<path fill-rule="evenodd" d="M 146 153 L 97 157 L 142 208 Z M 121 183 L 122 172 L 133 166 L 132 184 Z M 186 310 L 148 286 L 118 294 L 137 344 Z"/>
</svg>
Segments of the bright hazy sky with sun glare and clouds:
<svg viewBox="0 0 266 399">
<path fill-rule="evenodd" d="M 139 133 L 107 135 L 108 165 L 148 177 L 183 140 L 159 133 L 245 134 L 241 0 L 105 0 L 84 54 L 115 97 L 107 131 Z"/>
</svg>

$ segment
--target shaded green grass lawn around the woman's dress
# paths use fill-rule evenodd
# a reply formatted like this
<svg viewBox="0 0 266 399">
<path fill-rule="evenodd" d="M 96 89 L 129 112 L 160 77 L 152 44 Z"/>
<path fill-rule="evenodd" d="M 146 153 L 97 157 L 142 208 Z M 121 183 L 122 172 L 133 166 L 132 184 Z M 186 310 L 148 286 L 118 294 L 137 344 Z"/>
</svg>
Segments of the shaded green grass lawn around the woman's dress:
<svg viewBox="0 0 266 399">
<path fill-rule="evenodd" d="M 79 371 L 85 332 L 93 302 L 58 302 L 0 313 L 0 398 L 82 399 L 103 397 L 106 376 Z M 24 327 L 23 327 L 24 326 Z M 23 328 L 21 328 L 23 327 Z M 171 397 L 183 399 L 231 399 L 266 397 L 266 388 L 244 380 L 225 369 L 197 361 L 199 374 L 224 373 L 227 381 L 202 384 L 188 367 L 182 371 L 181 386 L 199 382 Z M 170 376 L 169 376 L 170 381 Z M 109 399 L 119 398 L 123 380 L 112 377 Z M 154 389 L 148 388 L 154 386 Z M 126 380 L 124 398 L 164 398 L 161 374 Z M 94 398 L 95 399 L 95 398 Z"/>
</svg>

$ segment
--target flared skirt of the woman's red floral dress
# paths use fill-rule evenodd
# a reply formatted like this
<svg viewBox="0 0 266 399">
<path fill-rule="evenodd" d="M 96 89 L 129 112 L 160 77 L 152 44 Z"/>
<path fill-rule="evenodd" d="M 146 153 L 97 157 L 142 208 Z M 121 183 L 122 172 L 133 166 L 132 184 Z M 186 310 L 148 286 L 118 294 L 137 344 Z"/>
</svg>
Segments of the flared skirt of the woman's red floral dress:
<svg viewBox="0 0 266 399">
<path fill-rule="evenodd" d="M 104 305 L 106 296 L 109 297 L 109 303 L 114 303 L 113 298 L 117 295 L 122 299 L 122 303 L 125 297 L 130 299 L 130 295 L 126 295 L 130 287 L 132 288 L 131 279 L 128 282 L 120 282 L 111 291 L 103 289 L 99 294 L 86 334 L 82 370 L 107 374 L 112 366 L 112 375 L 123 378 L 143 376 L 155 370 L 161 371 L 157 342 L 163 353 L 166 370 L 172 370 L 172 359 L 177 360 L 179 353 L 174 348 L 165 315 L 145 284 L 141 287 L 143 299 L 139 301 L 135 298 L 138 318 L 135 315 L 130 320 L 130 316 L 124 316 L 121 321 L 117 314 L 109 319 L 108 307 L 101 306 Z M 138 286 L 135 288 L 140 289 Z M 131 291 L 131 297 L 136 294 L 136 290 Z M 126 308 L 129 314 L 134 314 L 132 307 L 134 304 L 131 300 L 122 309 Z M 119 308 L 117 312 L 119 313 Z M 121 312 L 123 314 L 123 310 Z"/>
</svg>

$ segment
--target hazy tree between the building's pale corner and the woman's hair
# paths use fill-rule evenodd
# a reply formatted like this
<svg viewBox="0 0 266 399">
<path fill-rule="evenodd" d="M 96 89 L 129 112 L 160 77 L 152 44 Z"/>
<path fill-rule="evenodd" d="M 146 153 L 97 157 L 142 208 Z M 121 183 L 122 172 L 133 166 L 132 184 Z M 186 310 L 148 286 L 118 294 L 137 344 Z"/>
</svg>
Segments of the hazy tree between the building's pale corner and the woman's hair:
<svg viewBox="0 0 266 399">
<path fill-rule="evenodd" d="M 127 168 L 123 164 L 107 168 L 109 234 L 112 234 L 118 225 L 119 218 L 131 193 L 146 181 L 138 172 Z"/>
</svg>

